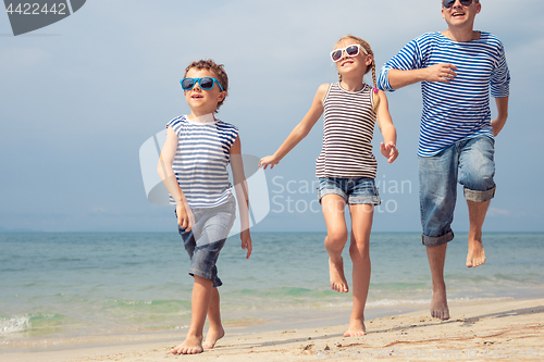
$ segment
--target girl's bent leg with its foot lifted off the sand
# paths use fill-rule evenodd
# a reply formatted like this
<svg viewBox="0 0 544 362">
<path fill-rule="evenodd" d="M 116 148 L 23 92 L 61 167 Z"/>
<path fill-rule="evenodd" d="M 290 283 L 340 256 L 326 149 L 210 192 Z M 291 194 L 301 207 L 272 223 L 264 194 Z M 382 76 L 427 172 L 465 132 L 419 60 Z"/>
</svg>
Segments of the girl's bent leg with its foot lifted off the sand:
<svg viewBox="0 0 544 362">
<path fill-rule="evenodd" d="M 344 216 L 346 200 L 339 195 L 329 194 L 321 199 L 321 207 L 326 224 L 325 249 L 329 253 L 331 289 L 348 292 L 349 288 L 344 275 L 344 260 L 342 259 L 342 251 L 347 241 L 346 219 Z"/>
</svg>

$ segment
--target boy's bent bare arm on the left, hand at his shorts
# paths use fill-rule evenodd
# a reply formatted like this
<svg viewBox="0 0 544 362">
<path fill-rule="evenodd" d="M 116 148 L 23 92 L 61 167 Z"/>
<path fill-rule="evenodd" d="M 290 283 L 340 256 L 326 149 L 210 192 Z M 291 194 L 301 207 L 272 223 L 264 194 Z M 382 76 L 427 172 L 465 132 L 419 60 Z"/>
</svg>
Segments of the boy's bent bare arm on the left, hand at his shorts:
<svg viewBox="0 0 544 362">
<path fill-rule="evenodd" d="M 177 225 L 185 227 L 186 232 L 190 232 L 193 225 L 195 225 L 195 220 L 190 208 L 187 203 L 185 195 L 183 195 L 177 179 L 175 177 L 172 164 L 174 163 L 175 151 L 177 149 L 177 135 L 172 127 L 168 126 L 166 130 L 166 141 L 162 147 L 161 155 L 159 158 L 159 164 L 157 165 L 157 172 L 161 176 L 162 183 L 166 186 L 170 195 L 175 201 L 175 212 L 177 214 Z"/>
</svg>

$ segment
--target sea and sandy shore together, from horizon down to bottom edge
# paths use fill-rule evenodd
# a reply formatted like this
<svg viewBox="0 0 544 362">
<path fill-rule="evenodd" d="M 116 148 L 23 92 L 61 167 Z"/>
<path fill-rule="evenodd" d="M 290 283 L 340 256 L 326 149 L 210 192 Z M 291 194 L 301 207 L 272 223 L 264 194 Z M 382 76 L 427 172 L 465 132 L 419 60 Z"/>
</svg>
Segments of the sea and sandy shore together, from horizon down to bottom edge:
<svg viewBox="0 0 544 362">
<path fill-rule="evenodd" d="M 456 235 L 446 260 L 446 322 L 430 317 L 420 235 L 372 234 L 368 335 L 360 338 L 343 337 L 351 294 L 330 290 L 323 233 L 252 238 L 249 260 L 234 237 L 218 263 L 226 336 L 201 355 L 175 357 L 169 351 L 185 337 L 193 287 L 178 235 L 0 234 L 0 361 L 353 360 L 384 349 L 392 360 L 419 360 L 421 351 L 471 360 L 475 349 L 480 360 L 495 348 L 489 359 L 542 357 L 542 233 L 486 234 L 487 261 L 477 269 L 465 266 L 466 235 Z"/>
</svg>

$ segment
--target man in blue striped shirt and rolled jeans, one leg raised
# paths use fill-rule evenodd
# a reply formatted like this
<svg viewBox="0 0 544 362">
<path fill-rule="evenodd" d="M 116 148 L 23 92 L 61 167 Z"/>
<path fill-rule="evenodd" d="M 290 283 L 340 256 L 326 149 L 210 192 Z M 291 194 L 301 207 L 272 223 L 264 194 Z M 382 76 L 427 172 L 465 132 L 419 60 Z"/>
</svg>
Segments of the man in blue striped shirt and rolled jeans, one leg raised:
<svg viewBox="0 0 544 362">
<path fill-rule="evenodd" d="M 494 137 L 508 115 L 510 75 L 500 41 L 474 32 L 480 0 L 442 0 L 447 30 L 410 41 L 382 68 L 379 88 L 421 82 L 423 114 L 418 150 L 422 242 L 426 247 L 433 297 L 431 315 L 449 319 L 444 283 L 447 242 L 457 180 L 465 187 L 470 230 L 467 266 L 485 263 L 482 225 L 495 194 Z M 491 120 L 491 95 L 497 117 Z"/>
</svg>

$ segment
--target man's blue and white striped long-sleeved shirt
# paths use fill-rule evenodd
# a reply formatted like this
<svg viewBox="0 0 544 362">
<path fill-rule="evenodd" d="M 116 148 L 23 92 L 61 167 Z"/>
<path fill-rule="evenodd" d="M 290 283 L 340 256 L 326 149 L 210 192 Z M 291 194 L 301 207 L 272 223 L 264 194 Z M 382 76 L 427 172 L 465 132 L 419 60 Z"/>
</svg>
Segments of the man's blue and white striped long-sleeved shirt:
<svg viewBox="0 0 544 362">
<path fill-rule="evenodd" d="M 423 114 L 418 154 L 430 157 L 459 140 L 480 135 L 493 138 L 490 89 L 493 97 L 509 95 L 510 74 L 502 42 L 481 33 L 479 40 L 453 41 L 428 33 L 410 41 L 382 68 L 378 87 L 393 91 L 387 72 L 423 68 L 438 63 L 457 66 L 449 84 L 422 82 Z"/>
</svg>

